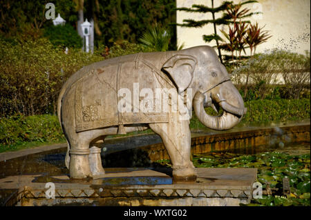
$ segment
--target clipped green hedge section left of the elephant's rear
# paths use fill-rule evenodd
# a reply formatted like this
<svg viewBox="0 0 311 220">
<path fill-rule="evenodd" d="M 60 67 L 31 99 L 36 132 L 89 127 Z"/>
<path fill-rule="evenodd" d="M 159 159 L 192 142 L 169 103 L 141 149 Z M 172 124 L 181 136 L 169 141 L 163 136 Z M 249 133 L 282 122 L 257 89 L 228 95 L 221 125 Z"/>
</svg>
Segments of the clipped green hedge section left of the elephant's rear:
<svg viewBox="0 0 311 220">
<path fill-rule="evenodd" d="M 64 141 L 64 134 L 55 115 L 0 118 L 0 148 L 23 142 Z"/>
</svg>

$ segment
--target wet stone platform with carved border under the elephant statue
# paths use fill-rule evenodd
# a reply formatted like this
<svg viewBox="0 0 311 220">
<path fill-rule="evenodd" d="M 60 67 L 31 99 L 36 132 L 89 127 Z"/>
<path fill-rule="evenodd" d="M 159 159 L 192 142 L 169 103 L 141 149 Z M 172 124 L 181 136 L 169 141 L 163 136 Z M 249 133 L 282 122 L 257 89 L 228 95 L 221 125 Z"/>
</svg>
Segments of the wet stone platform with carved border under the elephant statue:
<svg viewBox="0 0 311 220">
<path fill-rule="evenodd" d="M 89 181 L 42 174 L 0 179 L 0 190 L 15 190 L 5 206 L 238 206 L 252 199 L 256 168 L 196 168 L 198 178 L 176 182 L 171 170 L 106 168 Z M 55 199 L 46 183 L 55 183 Z"/>
</svg>

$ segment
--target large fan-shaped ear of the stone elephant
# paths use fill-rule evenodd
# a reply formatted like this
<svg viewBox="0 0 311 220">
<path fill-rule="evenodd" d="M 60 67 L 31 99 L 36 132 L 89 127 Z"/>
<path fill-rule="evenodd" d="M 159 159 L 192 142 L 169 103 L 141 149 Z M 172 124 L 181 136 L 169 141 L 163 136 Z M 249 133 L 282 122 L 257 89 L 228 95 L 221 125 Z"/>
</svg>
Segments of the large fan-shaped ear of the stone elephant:
<svg viewBox="0 0 311 220">
<path fill-rule="evenodd" d="M 185 91 L 194 77 L 194 69 L 198 61 L 195 57 L 178 54 L 168 59 L 162 66 L 162 70 L 168 72 L 178 86 L 179 92 Z"/>
</svg>

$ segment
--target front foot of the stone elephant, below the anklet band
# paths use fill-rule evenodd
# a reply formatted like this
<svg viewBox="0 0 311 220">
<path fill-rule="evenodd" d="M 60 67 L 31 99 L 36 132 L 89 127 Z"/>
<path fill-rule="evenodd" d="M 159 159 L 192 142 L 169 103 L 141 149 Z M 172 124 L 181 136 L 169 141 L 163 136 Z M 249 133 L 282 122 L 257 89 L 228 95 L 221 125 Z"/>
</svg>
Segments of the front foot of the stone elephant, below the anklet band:
<svg viewBox="0 0 311 220">
<path fill-rule="evenodd" d="M 172 166 L 173 181 L 196 181 L 196 169 L 191 166 Z"/>
</svg>

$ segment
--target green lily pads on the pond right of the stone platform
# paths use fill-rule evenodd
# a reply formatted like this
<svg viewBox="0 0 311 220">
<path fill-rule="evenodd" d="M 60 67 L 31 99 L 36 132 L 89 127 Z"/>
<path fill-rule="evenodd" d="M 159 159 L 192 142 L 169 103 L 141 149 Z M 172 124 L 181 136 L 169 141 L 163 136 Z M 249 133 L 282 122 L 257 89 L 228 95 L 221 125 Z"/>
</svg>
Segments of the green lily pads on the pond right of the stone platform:
<svg viewBox="0 0 311 220">
<path fill-rule="evenodd" d="M 282 152 L 263 152 L 251 155 L 236 155 L 229 152 L 212 152 L 194 155 L 198 168 L 257 168 L 257 181 L 263 190 L 278 188 L 263 199 L 253 199 L 249 206 L 310 206 L 310 154 L 289 155 Z M 283 178 L 290 179 L 291 194 L 283 194 Z"/>
</svg>

